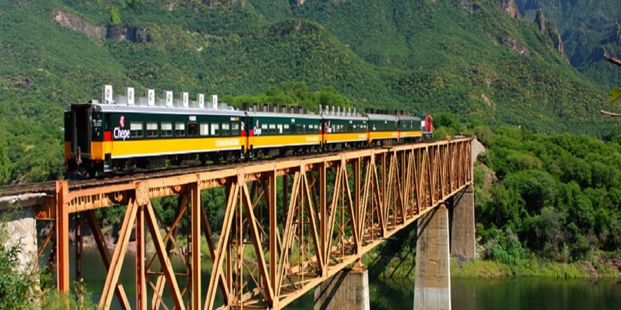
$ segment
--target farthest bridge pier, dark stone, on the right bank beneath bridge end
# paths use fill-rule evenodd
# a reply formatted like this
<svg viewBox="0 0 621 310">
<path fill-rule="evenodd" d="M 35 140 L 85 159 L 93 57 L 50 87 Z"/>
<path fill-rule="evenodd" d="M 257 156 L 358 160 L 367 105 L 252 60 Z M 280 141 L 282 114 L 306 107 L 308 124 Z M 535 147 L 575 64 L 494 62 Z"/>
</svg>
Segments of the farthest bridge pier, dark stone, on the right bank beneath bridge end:
<svg viewBox="0 0 621 310">
<path fill-rule="evenodd" d="M 451 255 L 460 261 L 475 258 L 475 238 L 474 186 L 470 185 L 455 196 L 451 222 Z"/>
</svg>

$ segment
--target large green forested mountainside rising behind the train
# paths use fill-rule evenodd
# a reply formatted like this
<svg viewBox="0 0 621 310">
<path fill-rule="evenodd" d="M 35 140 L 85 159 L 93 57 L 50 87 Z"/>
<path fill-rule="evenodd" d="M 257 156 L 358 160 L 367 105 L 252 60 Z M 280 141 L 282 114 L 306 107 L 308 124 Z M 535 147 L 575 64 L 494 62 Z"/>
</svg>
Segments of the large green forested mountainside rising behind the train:
<svg viewBox="0 0 621 310">
<path fill-rule="evenodd" d="M 0 147 L 12 176 L 55 178 L 63 107 L 101 99 L 104 84 L 191 99 L 302 81 L 311 91 L 333 87 L 358 110 L 606 134 L 614 120 L 598 111 L 613 83 L 589 75 L 598 69 L 588 63 L 584 74 L 573 68 L 564 23 L 535 23 L 534 8 L 513 0 L 154 0 L 136 10 L 112 0 L 2 1 Z"/>
</svg>

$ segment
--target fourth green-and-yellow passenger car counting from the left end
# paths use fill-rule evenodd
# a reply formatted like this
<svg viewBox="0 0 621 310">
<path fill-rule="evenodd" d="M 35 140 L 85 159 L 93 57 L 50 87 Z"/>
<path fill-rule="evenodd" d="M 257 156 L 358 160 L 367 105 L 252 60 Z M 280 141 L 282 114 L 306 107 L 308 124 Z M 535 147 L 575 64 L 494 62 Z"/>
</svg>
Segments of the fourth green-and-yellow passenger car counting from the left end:
<svg viewBox="0 0 621 310">
<path fill-rule="evenodd" d="M 377 113 L 381 112 L 381 113 Z M 368 110 L 368 143 L 373 146 L 389 146 L 399 140 L 399 118 L 385 111 Z"/>
</svg>

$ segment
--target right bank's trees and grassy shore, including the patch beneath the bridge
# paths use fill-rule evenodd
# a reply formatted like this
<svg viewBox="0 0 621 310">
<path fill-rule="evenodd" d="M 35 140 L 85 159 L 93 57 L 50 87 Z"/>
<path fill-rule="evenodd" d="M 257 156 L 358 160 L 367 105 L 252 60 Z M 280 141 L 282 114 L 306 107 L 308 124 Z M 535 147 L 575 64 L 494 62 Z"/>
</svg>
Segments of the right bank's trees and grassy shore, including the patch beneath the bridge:
<svg viewBox="0 0 621 310">
<path fill-rule="evenodd" d="M 440 114 L 436 132 L 477 134 L 486 145 L 475 163 L 477 253 L 451 265 L 451 276 L 619 277 L 621 124 L 604 141 L 571 134 L 496 130 Z M 400 231 L 366 257 L 370 272 L 412 278 L 416 234 Z"/>
</svg>

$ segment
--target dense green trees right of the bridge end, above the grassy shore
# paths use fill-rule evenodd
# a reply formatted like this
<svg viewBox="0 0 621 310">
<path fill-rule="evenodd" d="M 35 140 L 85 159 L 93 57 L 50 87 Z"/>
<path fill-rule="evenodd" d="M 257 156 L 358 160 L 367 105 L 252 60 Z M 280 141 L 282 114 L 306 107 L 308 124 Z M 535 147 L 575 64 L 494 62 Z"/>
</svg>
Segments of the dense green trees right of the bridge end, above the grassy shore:
<svg viewBox="0 0 621 310">
<path fill-rule="evenodd" d="M 621 145 L 612 142 L 619 139 L 495 130 L 479 158 L 485 166 L 475 169 L 477 230 L 487 254 L 515 260 L 528 249 L 571 262 L 619 249 Z"/>
</svg>

